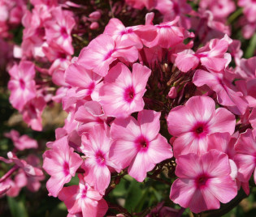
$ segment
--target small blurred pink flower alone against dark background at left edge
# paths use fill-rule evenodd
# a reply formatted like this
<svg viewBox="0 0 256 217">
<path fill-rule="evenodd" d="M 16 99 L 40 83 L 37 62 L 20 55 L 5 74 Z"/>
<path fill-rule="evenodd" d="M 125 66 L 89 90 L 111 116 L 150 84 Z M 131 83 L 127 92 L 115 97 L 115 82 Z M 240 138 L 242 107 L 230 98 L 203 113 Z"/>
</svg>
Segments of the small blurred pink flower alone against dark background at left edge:
<svg viewBox="0 0 256 217">
<path fill-rule="evenodd" d="M 38 147 L 37 140 L 28 137 L 28 135 L 20 136 L 19 132 L 16 130 L 11 130 L 9 133 L 5 134 L 5 136 L 11 138 L 14 146 L 20 151 Z"/>
</svg>

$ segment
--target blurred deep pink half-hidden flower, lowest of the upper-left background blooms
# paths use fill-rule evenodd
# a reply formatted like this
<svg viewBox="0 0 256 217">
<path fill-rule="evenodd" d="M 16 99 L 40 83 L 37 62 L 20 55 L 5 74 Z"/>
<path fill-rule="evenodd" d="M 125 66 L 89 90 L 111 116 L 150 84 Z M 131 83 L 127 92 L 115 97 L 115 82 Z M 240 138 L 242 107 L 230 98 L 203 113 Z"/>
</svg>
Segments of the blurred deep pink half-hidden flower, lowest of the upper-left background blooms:
<svg viewBox="0 0 256 217">
<path fill-rule="evenodd" d="M 42 120 L 41 114 L 46 107 L 46 101 L 43 96 L 37 96 L 33 100 L 28 101 L 25 104 L 24 109 L 21 111 L 23 120 L 30 126 L 33 130 L 42 130 Z"/>
</svg>

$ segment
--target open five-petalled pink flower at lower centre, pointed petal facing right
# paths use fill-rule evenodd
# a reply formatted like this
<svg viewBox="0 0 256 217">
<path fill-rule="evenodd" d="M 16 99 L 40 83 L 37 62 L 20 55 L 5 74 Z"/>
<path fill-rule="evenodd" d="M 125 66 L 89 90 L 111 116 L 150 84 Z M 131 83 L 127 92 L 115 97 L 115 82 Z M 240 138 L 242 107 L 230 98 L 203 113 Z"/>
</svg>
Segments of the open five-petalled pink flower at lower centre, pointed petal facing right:
<svg viewBox="0 0 256 217">
<path fill-rule="evenodd" d="M 155 164 L 172 157 L 171 146 L 161 134 L 161 113 L 143 110 L 134 117 L 115 119 L 111 124 L 111 160 L 128 168 L 128 174 L 143 181 Z"/>
</svg>

